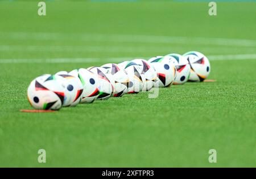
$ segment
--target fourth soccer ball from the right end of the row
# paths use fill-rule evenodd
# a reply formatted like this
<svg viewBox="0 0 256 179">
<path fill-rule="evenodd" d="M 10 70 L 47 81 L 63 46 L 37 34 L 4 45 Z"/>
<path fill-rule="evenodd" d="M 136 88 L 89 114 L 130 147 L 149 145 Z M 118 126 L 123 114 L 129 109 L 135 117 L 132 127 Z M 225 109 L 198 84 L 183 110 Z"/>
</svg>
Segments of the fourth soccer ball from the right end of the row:
<svg viewBox="0 0 256 179">
<path fill-rule="evenodd" d="M 152 87 L 154 87 L 156 79 L 158 79 L 154 67 L 145 59 L 133 59 L 131 62 L 135 62 L 142 67 L 141 75 L 144 76 L 145 79 L 142 91 L 150 91 Z"/>
</svg>

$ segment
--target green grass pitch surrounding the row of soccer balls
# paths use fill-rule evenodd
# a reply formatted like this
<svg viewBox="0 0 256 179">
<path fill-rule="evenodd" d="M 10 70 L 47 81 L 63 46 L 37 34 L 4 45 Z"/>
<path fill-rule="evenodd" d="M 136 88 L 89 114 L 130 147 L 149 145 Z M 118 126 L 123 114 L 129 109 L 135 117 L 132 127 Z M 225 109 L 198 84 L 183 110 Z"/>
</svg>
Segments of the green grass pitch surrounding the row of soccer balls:
<svg viewBox="0 0 256 179">
<path fill-rule="evenodd" d="M 46 5 L 39 16 L 37 1 L 0 2 L 0 167 L 256 167 L 256 3 L 217 2 L 217 16 L 207 2 Z M 19 112 L 41 74 L 189 50 L 216 82 Z"/>
</svg>

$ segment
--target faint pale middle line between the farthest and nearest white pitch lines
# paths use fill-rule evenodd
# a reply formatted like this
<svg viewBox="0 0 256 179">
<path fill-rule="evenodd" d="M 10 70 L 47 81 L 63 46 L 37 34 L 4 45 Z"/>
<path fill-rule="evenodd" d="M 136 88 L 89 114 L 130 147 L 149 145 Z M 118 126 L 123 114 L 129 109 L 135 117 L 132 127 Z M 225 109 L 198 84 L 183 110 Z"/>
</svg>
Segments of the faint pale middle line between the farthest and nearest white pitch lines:
<svg viewBox="0 0 256 179">
<path fill-rule="evenodd" d="M 196 47 L 195 47 L 196 48 Z M 59 46 L 59 45 L 0 45 L 1 52 L 107 52 L 107 53 L 134 53 L 134 52 L 176 52 L 181 49 L 187 51 L 186 46 Z M 241 50 L 241 48 L 234 48 L 230 46 L 212 46 L 200 47 L 203 52 L 233 52 L 234 50 Z M 246 47 L 242 52 L 254 53 L 255 48 Z"/>
</svg>

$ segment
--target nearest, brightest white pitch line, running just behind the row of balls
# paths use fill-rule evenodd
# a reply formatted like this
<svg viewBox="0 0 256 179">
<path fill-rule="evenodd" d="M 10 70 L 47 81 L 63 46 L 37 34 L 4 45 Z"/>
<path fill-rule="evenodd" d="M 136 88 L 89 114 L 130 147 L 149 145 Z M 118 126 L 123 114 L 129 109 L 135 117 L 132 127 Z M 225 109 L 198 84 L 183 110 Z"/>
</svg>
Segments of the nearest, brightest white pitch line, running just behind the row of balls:
<svg viewBox="0 0 256 179">
<path fill-rule="evenodd" d="M 115 62 L 119 63 L 141 57 L 113 57 L 113 58 L 49 58 L 49 59 L 0 59 L 0 63 L 90 63 Z M 149 59 L 150 57 L 146 58 Z M 210 61 L 256 59 L 256 54 L 229 54 L 208 56 Z"/>
</svg>

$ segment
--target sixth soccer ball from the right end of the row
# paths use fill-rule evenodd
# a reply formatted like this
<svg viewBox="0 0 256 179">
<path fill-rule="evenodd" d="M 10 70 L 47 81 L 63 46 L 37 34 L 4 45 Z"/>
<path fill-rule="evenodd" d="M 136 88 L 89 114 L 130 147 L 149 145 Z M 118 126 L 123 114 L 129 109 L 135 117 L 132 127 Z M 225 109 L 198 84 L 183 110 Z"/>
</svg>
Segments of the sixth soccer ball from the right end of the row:
<svg viewBox="0 0 256 179">
<path fill-rule="evenodd" d="M 113 75 L 115 88 L 113 96 L 123 96 L 127 92 L 127 89 L 129 87 L 129 78 L 126 71 L 123 69 L 119 69 L 119 67 L 115 63 L 108 63 L 102 65 L 101 67 L 107 70 L 107 74 L 110 73 Z"/>
</svg>

